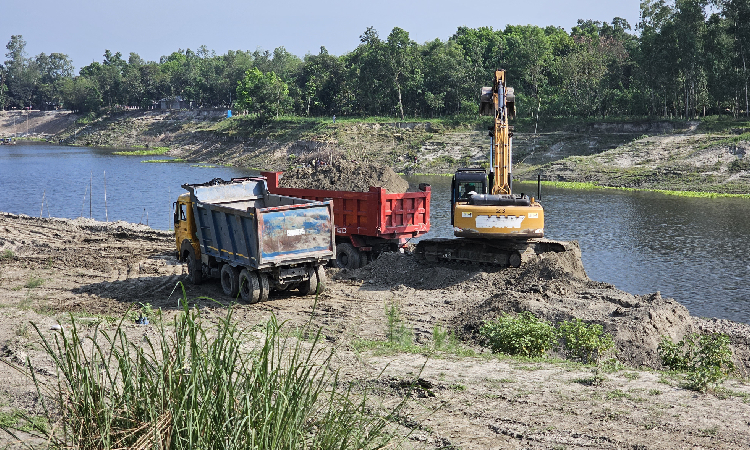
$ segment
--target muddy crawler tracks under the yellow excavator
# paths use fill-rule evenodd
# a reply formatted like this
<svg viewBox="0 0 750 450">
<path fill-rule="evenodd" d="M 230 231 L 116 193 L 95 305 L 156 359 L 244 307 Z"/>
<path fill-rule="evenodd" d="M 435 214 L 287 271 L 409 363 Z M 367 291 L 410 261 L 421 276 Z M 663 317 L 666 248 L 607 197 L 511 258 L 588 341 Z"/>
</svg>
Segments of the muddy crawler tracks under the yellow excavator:
<svg viewBox="0 0 750 450">
<path fill-rule="evenodd" d="M 564 252 L 570 243 L 551 239 L 423 239 L 414 256 L 426 262 L 468 262 L 493 266 L 520 267 L 524 257 L 547 252 Z"/>
</svg>

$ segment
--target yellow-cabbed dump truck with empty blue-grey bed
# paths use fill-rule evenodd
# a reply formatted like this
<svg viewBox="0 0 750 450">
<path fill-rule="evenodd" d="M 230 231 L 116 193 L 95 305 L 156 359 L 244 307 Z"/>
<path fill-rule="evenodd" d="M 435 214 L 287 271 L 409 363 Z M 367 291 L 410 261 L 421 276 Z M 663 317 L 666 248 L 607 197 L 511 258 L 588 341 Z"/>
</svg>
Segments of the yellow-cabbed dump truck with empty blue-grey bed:
<svg viewBox="0 0 750 450">
<path fill-rule="evenodd" d="M 323 266 L 336 251 L 333 202 L 272 194 L 263 177 L 182 187 L 175 241 L 191 283 L 219 278 L 224 294 L 247 303 L 271 290 L 325 289 Z"/>
</svg>

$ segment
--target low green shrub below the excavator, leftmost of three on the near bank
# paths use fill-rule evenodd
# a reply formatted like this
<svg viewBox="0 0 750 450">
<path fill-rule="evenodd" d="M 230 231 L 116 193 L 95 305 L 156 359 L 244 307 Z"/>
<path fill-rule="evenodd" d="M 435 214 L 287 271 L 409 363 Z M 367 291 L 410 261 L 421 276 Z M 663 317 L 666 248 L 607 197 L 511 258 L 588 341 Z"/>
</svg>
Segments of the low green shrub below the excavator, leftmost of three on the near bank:
<svg viewBox="0 0 750 450">
<path fill-rule="evenodd" d="M 494 353 L 526 357 L 544 355 L 555 340 L 555 328 L 528 311 L 486 320 L 479 334 Z"/>
</svg>

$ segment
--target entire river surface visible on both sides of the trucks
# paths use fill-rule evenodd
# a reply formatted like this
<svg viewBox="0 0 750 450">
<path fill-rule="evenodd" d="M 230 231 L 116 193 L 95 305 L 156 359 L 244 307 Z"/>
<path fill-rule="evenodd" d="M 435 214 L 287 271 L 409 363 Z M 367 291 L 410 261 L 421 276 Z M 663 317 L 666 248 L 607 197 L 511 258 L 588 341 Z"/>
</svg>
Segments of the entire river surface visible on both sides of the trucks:
<svg viewBox="0 0 750 450">
<path fill-rule="evenodd" d="M 0 211 L 38 217 L 44 198 L 44 217 L 89 217 L 91 209 L 98 220 L 170 229 L 182 184 L 254 174 L 141 162 L 147 159 L 154 157 L 47 144 L 0 146 Z M 432 185 L 427 237 L 451 237 L 450 177 L 408 179 Z M 535 193 L 536 185 L 514 189 Z M 578 240 L 592 279 L 634 294 L 661 291 L 693 315 L 750 323 L 750 200 L 545 188 L 542 204 L 546 236 Z"/>
</svg>

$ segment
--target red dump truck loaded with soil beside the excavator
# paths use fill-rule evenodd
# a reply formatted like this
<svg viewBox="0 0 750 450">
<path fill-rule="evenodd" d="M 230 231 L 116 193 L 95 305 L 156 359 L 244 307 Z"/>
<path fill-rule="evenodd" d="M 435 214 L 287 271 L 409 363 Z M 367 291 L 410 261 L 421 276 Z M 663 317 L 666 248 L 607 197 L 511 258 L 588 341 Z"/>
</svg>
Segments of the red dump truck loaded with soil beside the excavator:
<svg viewBox="0 0 750 450">
<path fill-rule="evenodd" d="M 382 252 L 399 251 L 410 239 L 430 231 L 430 185 L 417 192 L 389 194 L 382 187 L 368 192 L 281 188 L 283 172 L 261 172 L 273 194 L 333 201 L 336 266 L 357 269 Z"/>
</svg>

